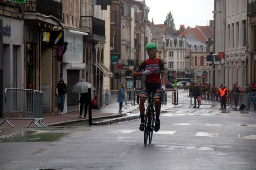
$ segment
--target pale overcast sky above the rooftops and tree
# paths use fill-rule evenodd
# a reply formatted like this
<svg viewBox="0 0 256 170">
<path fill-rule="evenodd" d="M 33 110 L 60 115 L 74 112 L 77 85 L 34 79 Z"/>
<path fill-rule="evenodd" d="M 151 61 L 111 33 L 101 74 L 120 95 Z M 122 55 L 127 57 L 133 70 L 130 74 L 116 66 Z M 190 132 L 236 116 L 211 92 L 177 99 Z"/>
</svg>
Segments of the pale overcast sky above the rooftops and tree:
<svg viewBox="0 0 256 170">
<path fill-rule="evenodd" d="M 181 24 L 185 28 L 190 26 L 209 25 L 209 20 L 213 20 L 214 0 L 146 0 L 146 6 L 150 8 L 148 19 L 154 24 L 164 24 L 167 13 L 171 11 L 176 29 Z"/>
</svg>

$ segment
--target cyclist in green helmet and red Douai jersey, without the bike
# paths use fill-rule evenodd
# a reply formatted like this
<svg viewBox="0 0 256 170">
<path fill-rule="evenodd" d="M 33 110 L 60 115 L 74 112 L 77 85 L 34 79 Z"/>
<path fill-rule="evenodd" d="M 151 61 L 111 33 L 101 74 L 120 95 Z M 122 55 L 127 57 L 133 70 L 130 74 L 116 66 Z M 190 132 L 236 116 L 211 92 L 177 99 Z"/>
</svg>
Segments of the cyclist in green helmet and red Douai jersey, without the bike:
<svg viewBox="0 0 256 170">
<path fill-rule="evenodd" d="M 140 63 L 139 67 L 133 72 L 133 77 L 140 77 L 142 75 L 146 75 L 146 82 L 143 90 L 140 92 L 140 96 L 149 96 L 151 92 L 153 92 L 154 97 L 162 96 L 162 93 L 165 93 L 165 74 L 164 74 L 164 61 L 160 58 L 156 58 L 156 50 L 157 47 L 155 44 L 150 43 L 146 46 L 146 51 L 148 53 L 149 58 L 142 63 Z M 142 71 L 143 72 L 140 72 Z M 160 78 L 161 75 L 161 78 Z M 162 86 L 161 86 L 162 79 Z M 144 102 L 146 98 L 140 98 L 139 109 L 140 109 L 140 119 L 141 124 L 139 127 L 140 131 L 144 131 Z M 155 101 L 155 131 L 159 131 L 160 129 L 160 99 L 154 99 Z"/>
</svg>

